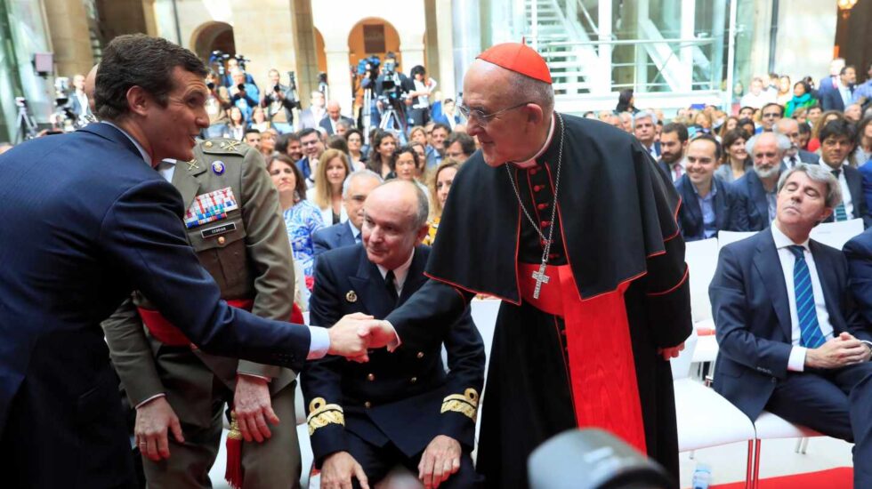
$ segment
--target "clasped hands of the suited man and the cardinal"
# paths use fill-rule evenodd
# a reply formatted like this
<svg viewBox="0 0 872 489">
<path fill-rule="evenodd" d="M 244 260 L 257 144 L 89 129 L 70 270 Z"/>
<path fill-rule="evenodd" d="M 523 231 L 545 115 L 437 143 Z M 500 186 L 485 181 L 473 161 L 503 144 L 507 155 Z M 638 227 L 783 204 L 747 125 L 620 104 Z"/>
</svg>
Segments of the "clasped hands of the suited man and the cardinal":
<svg viewBox="0 0 872 489">
<path fill-rule="evenodd" d="M 400 338 L 390 323 L 359 312 L 343 316 L 327 332 L 330 334 L 327 354 L 355 362 L 368 362 L 368 349 L 395 349 L 400 346 Z"/>
</svg>

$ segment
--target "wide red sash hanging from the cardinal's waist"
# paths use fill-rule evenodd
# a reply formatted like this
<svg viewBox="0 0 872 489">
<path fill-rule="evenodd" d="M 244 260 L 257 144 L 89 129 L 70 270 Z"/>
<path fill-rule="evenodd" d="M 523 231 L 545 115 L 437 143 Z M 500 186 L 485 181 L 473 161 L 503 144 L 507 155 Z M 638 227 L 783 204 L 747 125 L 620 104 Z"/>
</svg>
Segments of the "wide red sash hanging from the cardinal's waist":
<svg viewBox="0 0 872 489">
<path fill-rule="evenodd" d="M 521 297 L 566 322 L 569 377 L 579 428 L 597 427 L 621 437 L 642 453 L 645 426 L 626 318 L 626 282 L 612 293 L 581 301 L 569 265 L 549 266 L 550 277 L 533 298 L 538 265 L 519 263 Z"/>
</svg>

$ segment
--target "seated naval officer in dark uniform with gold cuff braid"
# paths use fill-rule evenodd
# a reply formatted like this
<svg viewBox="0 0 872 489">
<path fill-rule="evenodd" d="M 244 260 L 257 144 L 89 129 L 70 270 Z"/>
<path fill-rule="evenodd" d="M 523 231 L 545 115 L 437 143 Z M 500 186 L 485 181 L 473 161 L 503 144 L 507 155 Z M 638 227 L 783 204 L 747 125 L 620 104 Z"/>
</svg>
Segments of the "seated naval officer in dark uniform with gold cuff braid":
<svg viewBox="0 0 872 489">
<path fill-rule="evenodd" d="M 314 324 L 343 311 L 386 317 L 424 285 L 430 248 L 427 197 L 393 180 L 364 204 L 363 244 L 322 254 L 311 298 Z M 330 323 L 332 324 L 332 323 Z M 446 374 L 440 351 L 448 350 Z M 432 324 L 368 363 L 319 362 L 303 373 L 309 433 L 321 483 L 375 484 L 402 464 L 427 487 L 472 487 L 472 445 L 484 349 L 469 311 L 451 325 Z"/>
</svg>

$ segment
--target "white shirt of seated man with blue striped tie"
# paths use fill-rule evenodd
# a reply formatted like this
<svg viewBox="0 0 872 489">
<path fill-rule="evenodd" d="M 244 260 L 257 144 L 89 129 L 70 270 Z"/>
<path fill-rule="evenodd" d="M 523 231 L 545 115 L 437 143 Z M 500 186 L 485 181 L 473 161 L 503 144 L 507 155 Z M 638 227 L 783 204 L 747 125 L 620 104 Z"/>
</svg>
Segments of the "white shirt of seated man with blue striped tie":
<svg viewBox="0 0 872 489">
<path fill-rule="evenodd" d="M 770 226 L 772 238 L 775 240 L 775 247 L 779 252 L 779 261 L 781 261 L 781 270 L 784 272 L 784 283 L 787 285 L 787 301 L 790 304 L 790 341 L 793 348 L 790 350 L 790 357 L 787 360 L 787 370 L 794 372 L 803 372 L 805 370 L 805 352 L 806 348 L 799 346 L 799 340 L 802 333 L 799 329 L 799 316 L 796 314 L 796 294 L 794 290 L 794 265 L 796 257 L 787 247 L 794 244 L 799 244 L 805 249 L 805 264 L 808 265 L 809 275 L 811 276 L 811 293 L 814 294 L 814 310 L 818 316 L 818 325 L 820 333 L 824 339 L 829 341 L 833 339 L 833 325 L 829 322 L 829 312 L 827 311 L 827 303 L 824 301 L 824 290 L 820 286 L 820 278 L 818 277 L 818 269 L 814 264 L 814 257 L 811 256 L 809 250 L 808 238 L 803 243 L 794 243 L 789 237 L 778 228 L 775 222 Z"/>
</svg>

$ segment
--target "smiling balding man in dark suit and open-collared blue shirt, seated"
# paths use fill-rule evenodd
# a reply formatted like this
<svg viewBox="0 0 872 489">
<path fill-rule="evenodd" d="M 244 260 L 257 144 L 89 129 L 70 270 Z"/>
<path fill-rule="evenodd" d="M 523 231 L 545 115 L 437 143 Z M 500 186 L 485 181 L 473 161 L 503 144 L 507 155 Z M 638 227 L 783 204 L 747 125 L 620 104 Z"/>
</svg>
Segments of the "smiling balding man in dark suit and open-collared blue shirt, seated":
<svg viewBox="0 0 872 489">
<path fill-rule="evenodd" d="M 675 183 L 682 204 L 678 224 L 684 241 L 717 236 L 721 229 L 747 231 L 747 215 L 739 205 L 736 191 L 715 178 L 721 145 L 714 136 L 700 134 L 687 146 L 686 170 Z"/>
</svg>

